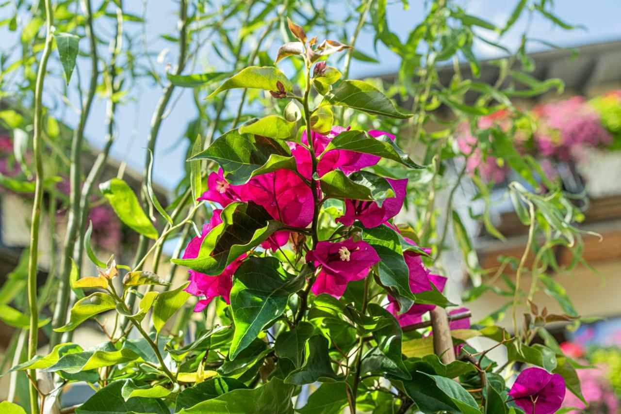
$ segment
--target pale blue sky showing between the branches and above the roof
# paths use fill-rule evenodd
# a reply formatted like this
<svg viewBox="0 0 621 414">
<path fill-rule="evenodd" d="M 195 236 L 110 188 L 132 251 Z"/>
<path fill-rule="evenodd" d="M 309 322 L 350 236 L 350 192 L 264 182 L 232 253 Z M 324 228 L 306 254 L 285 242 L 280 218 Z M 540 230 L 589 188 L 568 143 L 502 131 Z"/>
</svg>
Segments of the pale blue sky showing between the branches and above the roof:
<svg viewBox="0 0 621 414">
<path fill-rule="evenodd" d="M 390 3 L 388 6 L 388 25 L 404 41 L 410 30 L 422 19 L 422 4 L 424 2 L 410 0 L 410 7 L 405 11 L 401 1 L 392 1 Z M 141 14 L 142 1 L 125 2 L 125 4 L 127 4 L 129 12 Z M 338 2 L 338 4 L 342 3 Z M 460 1 L 460 4 L 469 14 L 480 16 L 502 25 L 512 11 L 515 1 L 466 0 Z M 175 29 L 177 7 L 177 2 L 172 0 L 151 0 L 148 2 L 147 38 L 150 42 L 149 47 L 152 50 L 157 50 L 158 48 L 158 41 L 153 40 L 156 39 L 157 35 Z M 3 12 L 6 11 L 0 10 L 0 15 Z M 339 10 L 337 9 L 334 12 L 338 13 Z M 529 37 L 540 38 L 546 42 L 557 43 L 564 47 L 621 38 L 621 24 L 619 23 L 621 1 L 619 0 L 594 0 L 590 2 L 557 0 L 555 2 L 555 14 L 567 22 L 584 25 L 586 30 L 561 30 L 553 27 L 550 22 L 542 17 L 536 16 L 530 21 Z M 502 43 L 509 48 L 514 48 L 519 43 L 520 35 L 527 27 L 527 24 L 527 19 L 520 19 L 515 24 L 514 29 L 505 35 Z M 14 34 L 6 33 L 6 30 L 6 26 L 0 28 L 0 38 L 8 38 L 9 40 L 14 38 Z M 128 30 L 132 29 L 128 27 Z M 0 47 L 4 47 L 9 43 L 12 42 L 6 42 L 0 45 Z M 170 43 L 159 43 L 162 43 L 162 47 L 171 47 Z M 373 35 L 362 32 L 356 46 L 365 53 L 373 53 Z M 173 45 L 172 48 L 173 50 L 164 56 L 161 61 L 154 60 L 159 71 L 163 71 L 168 62 L 174 63 L 176 60 L 175 46 Z M 533 43 L 530 45 L 529 50 L 535 52 L 543 48 L 545 47 Z M 490 58 L 496 53 L 484 43 L 476 44 L 474 52 L 479 58 Z M 272 52 L 271 54 L 273 55 L 274 53 Z M 397 70 L 397 60 L 389 52 L 379 47 L 378 55 L 379 60 L 381 60 L 380 64 L 366 64 L 354 61 L 351 67 L 351 76 L 364 77 L 373 74 L 391 73 Z M 497 56 L 497 53 L 495 56 Z M 209 56 L 201 56 L 200 60 L 209 60 Z M 80 68 L 83 79 L 86 79 L 88 75 L 88 61 L 82 59 Z M 220 68 L 220 70 L 226 70 L 226 68 Z M 194 71 L 201 71 L 200 65 Z M 191 73 L 191 71 L 186 70 L 185 73 Z M 60 91 L 58 85 L 56 88 L 57 92 Z M 129 166 L 138 169 L 138 171 L 142 170 L 150 120 L 156 102 L 161 95 L 160 86 L 152 83 L 152 81 L 143 81 L 141 88 L 142 92 L 138 102 L 122 107 L 122 110 L 117 114 L 119 136 L 112 147 L 112 156 L 114 158 L 120 161 L 127 161 Z M 181 96 L 179 97 L 178 94 L 181 94 Z M 70 99 L 73 102 L 78 102 L 75 96 L 70 96 Z M 163 121 L 155 151 L 155 180 L 170 189 L 175 186 L 183 175 L 183 162 L 187 141 L 180 141 L 179 138 L 183 135 L 188 121 L 196 116 L 196 109 L 194 108 L 189 90 L 182 91 L 179 89 L 176 91 L 173 101 L 176 102 L 176 105 Z M 89 143 L 95 148 L 101 148 L 104 145 L 104 114 L 105 102 L 96 100 L 86 128 L 86 137 L 88 137 Z M 71 119 L 75 118 L 75 115 L 70 115 L 70 123 Z"/>
</svg>

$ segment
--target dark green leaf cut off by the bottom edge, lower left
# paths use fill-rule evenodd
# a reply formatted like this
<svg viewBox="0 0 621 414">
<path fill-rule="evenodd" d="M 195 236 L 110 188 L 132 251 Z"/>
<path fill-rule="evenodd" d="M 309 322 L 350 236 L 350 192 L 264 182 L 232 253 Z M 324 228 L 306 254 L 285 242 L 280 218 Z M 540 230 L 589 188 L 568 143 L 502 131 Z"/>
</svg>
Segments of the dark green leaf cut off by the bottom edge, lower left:
<svg viewBox="0 0 621 414">
<path fill-rule="evenodd" d="M 156 398 L 134 397 L 125 401 L 121 391 L 127 381 L 114 381 L 106 385 L 76 408 L 76 414 L 170 413 L 166 404 Z"/>
</svg>

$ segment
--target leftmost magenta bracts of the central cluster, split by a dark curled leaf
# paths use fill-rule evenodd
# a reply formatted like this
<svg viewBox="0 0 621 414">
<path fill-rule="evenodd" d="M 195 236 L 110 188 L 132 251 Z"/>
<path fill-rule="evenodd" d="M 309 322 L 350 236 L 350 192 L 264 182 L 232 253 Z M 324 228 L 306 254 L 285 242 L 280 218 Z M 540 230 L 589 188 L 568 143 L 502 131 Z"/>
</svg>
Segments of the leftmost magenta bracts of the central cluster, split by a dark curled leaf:
<svg viewBox="0 0 621 414">
<path fill-rule="evenodd" d="M 211 232 L 211 230 L 222 223 L 222 218 L 220 218 L 221 213 L 222 210 L 214 210 L 214 215 L 211 216 L 209 223 L 206 223 L 202 227 L 201 236 L 194 237 L 188 243 L 188 246 L 183 253 L 184 259 L 194 259 L 198 257 L 199 251 L 201 251 L 202 241 L 205 240 L 205 237 L 209 234 L 209 232 Z M 229 266 L 227 266 L 222 273 L 214 276 L 199 273 L 194 270 L 188 271 L 190 274 L 190 284 L 186 287 L 186 292 L 194 296 L 205 297 L 205 299 L 200 299 L 197 302 L 196 307 L 194 307 L 194 312 L 201 312 L 201 310 L 209 305 L 209 302 L 218 296 L 222 296 L 227 304 L 229 303 L 229 296 L 233 287 L 233 273 L 235 273 L 239 265 L 242 264 L 245 257 L 246 254 L 242 254 L 242 256 L 235 259 L 233 263 L 229 264 Z"/>
</svg>

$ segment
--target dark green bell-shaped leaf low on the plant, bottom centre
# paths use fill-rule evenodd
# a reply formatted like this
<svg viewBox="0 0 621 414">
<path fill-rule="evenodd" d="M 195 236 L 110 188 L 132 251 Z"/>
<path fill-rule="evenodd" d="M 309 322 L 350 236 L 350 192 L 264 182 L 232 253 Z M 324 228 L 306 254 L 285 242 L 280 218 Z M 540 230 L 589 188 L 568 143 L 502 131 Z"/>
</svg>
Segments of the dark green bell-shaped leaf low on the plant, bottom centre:
<svg viewBox="0 0 621 414">
<path fill-rule="evenodd" d="M 285 384 L 304 385 L 313 382 L 337 382 L 345 380 L 338 377 L 332 369 L 328 354 L 328 340 L 323 336 L 315 335 L 308 340 L 309 354 L 304 366 L 299 367 L 289 374 Z"/>
</svg>

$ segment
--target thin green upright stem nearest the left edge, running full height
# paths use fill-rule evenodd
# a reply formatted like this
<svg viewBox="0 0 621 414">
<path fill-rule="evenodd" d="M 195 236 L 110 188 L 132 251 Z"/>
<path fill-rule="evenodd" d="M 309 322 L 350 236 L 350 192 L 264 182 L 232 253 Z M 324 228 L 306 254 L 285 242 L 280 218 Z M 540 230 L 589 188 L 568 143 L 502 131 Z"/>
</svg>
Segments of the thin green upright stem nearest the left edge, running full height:
<svg viewBox="0 0 621 414">
<path fill-rule="evenodd" d="M 30 308 L 30 331 L 28 334 L 28 358 L 37 354 L 37 340 L 39 335 L 39 309 L 37 308 L 37 254 L 39 253 L 39 227 L 41 223 L 41 204 L 43 201 L 43 160 L 41 159 L 41 137 L 43 135 L 43 81 L 47 69 L 47 60 L 52 52 L 52 25 L 53 11 L 51 0 L 45 0 L 45 46 L 37 71 L 35 84 L 35 119 L 34 134 L 32 137 L 33 155 L 35 164 L 35 194 L 32 203 L 32 220 L 30 222 L 30 251 L 28 257 L 28 305 Z M 37 371 L 29 370 L 30 376 L 37 380 Z M 37 389 L 30 384 L 30 412 L 39 413 Z"/>
</svg>

